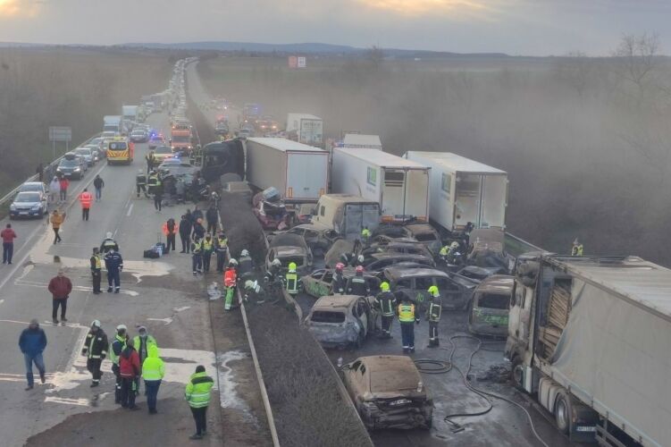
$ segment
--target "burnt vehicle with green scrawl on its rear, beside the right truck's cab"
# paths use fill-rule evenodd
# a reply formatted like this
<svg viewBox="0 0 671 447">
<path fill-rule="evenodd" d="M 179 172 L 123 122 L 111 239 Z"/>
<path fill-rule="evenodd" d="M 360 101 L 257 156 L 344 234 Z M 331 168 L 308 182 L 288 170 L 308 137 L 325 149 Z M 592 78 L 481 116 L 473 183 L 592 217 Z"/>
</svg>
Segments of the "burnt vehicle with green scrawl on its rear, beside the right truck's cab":
<svg viewBox="0 0 671 447">
<path fill-rule="evenodd" d="M 508 308 L 513 285 L 512 276 L 495 274 L 475 288 L 468 311 L 470 333 L 507 337 Z"/>
</svg>

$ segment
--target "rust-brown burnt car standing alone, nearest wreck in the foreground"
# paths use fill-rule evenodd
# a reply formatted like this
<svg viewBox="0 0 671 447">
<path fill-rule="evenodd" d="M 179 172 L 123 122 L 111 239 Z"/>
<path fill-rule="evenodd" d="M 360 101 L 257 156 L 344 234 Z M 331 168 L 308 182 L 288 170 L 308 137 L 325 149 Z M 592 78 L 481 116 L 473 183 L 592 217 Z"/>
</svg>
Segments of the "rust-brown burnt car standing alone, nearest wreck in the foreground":
<svg viewBox="0 0 671 447">
<path fill-rule="evenodd" d="M 342 367 L 342 381 L 369 430 L 432 426 L 433 400 L 412 358 L 370 356 Z"/>
</svg>

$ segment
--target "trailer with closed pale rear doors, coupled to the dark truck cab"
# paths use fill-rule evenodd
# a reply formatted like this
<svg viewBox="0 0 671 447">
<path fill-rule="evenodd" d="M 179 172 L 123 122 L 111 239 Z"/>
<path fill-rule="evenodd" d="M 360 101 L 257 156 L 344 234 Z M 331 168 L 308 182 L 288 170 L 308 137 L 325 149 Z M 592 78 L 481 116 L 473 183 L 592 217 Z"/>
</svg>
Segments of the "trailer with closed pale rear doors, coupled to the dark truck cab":
<svg viewBox="0 0 671 447">
<path fill-rule="evenodd" d="M 316 201 L 328 192 L 329 153 L 289 139 L 250 138 L 247 181 L 259 190 L 274 187 L 287 202 Z"/>
</svg>

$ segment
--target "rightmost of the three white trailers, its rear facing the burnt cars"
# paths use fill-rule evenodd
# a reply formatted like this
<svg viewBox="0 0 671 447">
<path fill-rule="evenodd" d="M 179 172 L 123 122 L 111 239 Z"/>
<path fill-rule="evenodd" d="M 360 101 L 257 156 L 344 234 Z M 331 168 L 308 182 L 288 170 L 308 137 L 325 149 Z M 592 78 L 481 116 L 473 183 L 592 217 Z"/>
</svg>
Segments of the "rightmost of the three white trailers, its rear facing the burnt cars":
<svg viewBox="0 0 671 447">
<path fill-rule="evenodd" d="M 505 230 L 507 173 L 450 152 L 408 151 L 405 155 L 432 166 L 432 222 L 449 232 L 474 228 Z"/>
</svg>

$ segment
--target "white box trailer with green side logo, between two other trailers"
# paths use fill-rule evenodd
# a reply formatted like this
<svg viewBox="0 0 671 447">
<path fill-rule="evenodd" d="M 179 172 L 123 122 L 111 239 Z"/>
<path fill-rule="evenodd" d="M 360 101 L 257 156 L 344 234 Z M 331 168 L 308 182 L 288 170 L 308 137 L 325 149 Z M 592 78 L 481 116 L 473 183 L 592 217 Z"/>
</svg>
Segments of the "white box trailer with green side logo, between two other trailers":
<svg viewBox="0 0 671 447">
<path fill-rule="evenodd" d="M 380 204 L 382 222 L 429 218 L 431 167 L 381 150 L 333 148 L 333 192 L 356 194 Z"/>
</svg>

